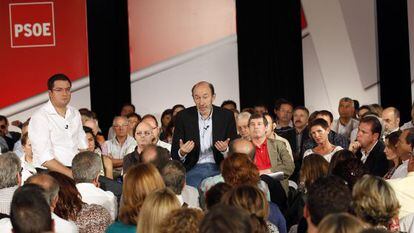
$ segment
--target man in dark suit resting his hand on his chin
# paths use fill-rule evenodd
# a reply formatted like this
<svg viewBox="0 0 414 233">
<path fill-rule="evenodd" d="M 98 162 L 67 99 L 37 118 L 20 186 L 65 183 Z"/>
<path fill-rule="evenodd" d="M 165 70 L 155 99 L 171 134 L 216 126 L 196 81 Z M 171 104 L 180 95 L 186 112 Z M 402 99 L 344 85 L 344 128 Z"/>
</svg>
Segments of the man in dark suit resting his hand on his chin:
<svg viewBox="0 0 414 233">
<path fill-rule="evenodd" d="M 384 143 L 379 140 L 382 126 L 375 116 L 362 118 L 358 126 L 357 141 L 349 150 L 361 159 L 369 174 L 383 177 L 388 171 L 388 160 L 384 153 Z"/>
</svg>

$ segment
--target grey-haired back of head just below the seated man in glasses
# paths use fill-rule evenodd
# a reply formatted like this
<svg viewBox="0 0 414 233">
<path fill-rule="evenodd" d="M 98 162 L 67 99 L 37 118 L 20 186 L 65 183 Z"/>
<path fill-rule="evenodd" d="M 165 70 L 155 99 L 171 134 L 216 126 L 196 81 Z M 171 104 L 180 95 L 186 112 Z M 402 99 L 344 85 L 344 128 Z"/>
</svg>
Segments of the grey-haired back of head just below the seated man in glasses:
<svg viewBox="0 0 414 233">
<path fill-rule="evenodd" d="M 94 152 L 78 153 L 72 160 L 73 179 L 76 183 L 92 183 L 99 175 L 101 163 L 99 155 Z"/>
</svg>

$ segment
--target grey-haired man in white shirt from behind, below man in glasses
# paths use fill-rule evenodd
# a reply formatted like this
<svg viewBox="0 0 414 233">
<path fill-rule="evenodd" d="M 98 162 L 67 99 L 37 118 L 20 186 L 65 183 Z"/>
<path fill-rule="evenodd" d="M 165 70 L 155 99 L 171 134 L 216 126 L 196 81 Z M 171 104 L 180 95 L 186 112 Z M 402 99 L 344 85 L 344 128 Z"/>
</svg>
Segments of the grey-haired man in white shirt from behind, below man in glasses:
<svg viewBox="0 0 414 233">
<path fill-rule="evenodd" d="M 97 204 L 105 207 L 111 214 L 112 220 L 115 220 L 117 200 L 112 192 L 99 188 L 100 169 L 101 159 L 99 155 L 90 151 L 80 152 L 72 160 L 73 179 L 82 196 L 82 201 L 87 204 Z"/>
</svg>

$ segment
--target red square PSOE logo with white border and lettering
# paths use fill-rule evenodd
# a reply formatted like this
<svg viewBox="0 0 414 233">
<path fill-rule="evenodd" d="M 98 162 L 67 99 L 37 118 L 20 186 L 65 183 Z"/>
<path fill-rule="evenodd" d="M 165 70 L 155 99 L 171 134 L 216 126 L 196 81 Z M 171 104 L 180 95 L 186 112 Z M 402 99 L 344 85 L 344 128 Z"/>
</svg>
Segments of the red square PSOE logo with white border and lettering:
<svg viewBox="0 0 414 233">
<path fill-rule="evenodd" d="M 53 2 L 10 3 L 12 48 L 56 45 Z"/>
</svg>

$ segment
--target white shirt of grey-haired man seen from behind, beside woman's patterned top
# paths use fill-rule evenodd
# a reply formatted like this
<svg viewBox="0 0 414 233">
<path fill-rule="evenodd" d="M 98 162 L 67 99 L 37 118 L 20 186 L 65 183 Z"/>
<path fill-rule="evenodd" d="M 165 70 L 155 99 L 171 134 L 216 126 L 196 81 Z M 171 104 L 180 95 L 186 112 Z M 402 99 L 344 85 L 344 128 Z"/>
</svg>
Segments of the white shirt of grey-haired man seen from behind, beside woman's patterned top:
<svg viewBox="0 0 414 233">
<path fill-rule="evenodd" d="M 104 191 L 92 183 L 79 183 L 76 188 L 82 196 L 82 201 L 87 204 L 103 206 L 111 214 L 112 220 L 117 216 L 118 204 L 115 195 L 110 191 Z"/>
</svg>

